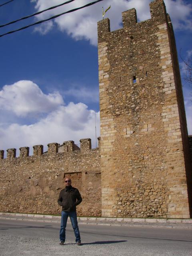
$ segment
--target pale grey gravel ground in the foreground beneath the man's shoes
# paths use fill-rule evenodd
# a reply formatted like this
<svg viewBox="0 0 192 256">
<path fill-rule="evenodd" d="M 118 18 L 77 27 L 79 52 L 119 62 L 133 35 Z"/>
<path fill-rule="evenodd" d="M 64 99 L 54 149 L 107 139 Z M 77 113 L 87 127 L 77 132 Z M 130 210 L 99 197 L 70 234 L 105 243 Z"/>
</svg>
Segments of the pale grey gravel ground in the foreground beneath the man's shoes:
<svg viewBox="0 0 192 256">
<path fill-rule="evenodd" d="M 28 238 L 24 236 L 1 236 L 0 237 L 0 255 L 1 256 L 190 256 L 188 252 L 183 251 L 180 246 L 174 247 L 164 245 L 163 242 L 158 242 L 155 246 L 150 243 L 146 244 L 138 242 L 137 246 L 130 241 L 101 241 L 84 243 L 82 246 L 77 246 L 74 241 L 67 240 L 61 246 L 58 239 L 43 239 L 43 238 Z"/>
</svg>

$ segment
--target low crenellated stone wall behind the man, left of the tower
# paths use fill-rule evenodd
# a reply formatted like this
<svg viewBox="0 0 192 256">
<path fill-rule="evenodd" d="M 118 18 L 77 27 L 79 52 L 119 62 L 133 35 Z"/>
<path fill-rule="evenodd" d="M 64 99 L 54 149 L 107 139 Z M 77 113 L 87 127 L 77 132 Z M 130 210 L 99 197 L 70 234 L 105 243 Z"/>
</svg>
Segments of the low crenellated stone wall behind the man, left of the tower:
<svg viewBox="0 0 192 256">
<path fill-rule="evenodd" d="M 34 146 L 33 156 L 29 148 L 7 150 L 4 158 L 0 151 L 0 211 L 58 214 L 59 192 L 65 187 L 65 177 L 72 179 L 83 201 L 77 207 L 79 216 L 101 215 L 101 172 L 99 148 L 91 149 L 91 140 L 80 141 L 81 150 L 73 141 Z M 59 148 L 59 150 L 58 150 Z M 76 150 L 74 150 L 76 149 Z M 59 151 L 59 152 L 58 152 Z"/>
</svg>

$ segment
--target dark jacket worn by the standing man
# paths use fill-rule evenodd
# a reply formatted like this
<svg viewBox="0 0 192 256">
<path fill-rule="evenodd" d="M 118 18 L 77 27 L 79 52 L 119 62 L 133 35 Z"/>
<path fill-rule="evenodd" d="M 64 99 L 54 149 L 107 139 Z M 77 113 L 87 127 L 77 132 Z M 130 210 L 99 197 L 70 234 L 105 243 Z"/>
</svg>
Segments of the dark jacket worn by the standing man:
<svg viewBox="0 0 192 256">
<path fill-rule="evenodd" d="M 62 211 L 76 212 L 76 206 L 82 202 L 82 197 L 77 188 L 70 186 L 61 190 L 57 202 L 62 206 Z"/>
</svg>

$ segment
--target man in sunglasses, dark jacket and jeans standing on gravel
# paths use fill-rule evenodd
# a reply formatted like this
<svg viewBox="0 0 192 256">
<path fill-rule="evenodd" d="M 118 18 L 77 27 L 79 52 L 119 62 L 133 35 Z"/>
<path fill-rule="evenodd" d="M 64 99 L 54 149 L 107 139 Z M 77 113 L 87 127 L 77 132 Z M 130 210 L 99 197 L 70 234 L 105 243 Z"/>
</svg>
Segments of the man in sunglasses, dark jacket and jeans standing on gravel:
<svg viewBox="0 0 192 256">
<path fill-rule="evenodd" d="M 61 190 L 58 198 L 58 204 L 62 206 L 61 212 L 61 229 L 60 229 L 60 245 L 65 242 L 65 229 L 68 216 L 70 217 L 71 224 L 76 237 L 77 245 L 81 245 L 80 232 L 77 223 L 76 206 L 82 202 L 82 197 L 77 188 L 71 186 L 71 179 L 65 179 L 65 188 Z"/>
</svg>

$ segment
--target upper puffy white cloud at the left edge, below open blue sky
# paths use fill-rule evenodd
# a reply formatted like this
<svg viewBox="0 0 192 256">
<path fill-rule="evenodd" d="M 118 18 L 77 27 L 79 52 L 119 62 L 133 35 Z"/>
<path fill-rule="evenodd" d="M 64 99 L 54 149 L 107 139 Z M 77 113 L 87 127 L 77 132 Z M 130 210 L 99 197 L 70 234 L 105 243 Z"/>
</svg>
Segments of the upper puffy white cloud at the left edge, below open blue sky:
<svg viewBox="0 0 192 256">
<path fill-rule="evenodd" d="M 0 109 L 17 116 L 48 113 L 64 104 L 59 92 L 44 94 L 32 81 L 22 80 L 5 85 L 0 91 Z"/>
</svg>

